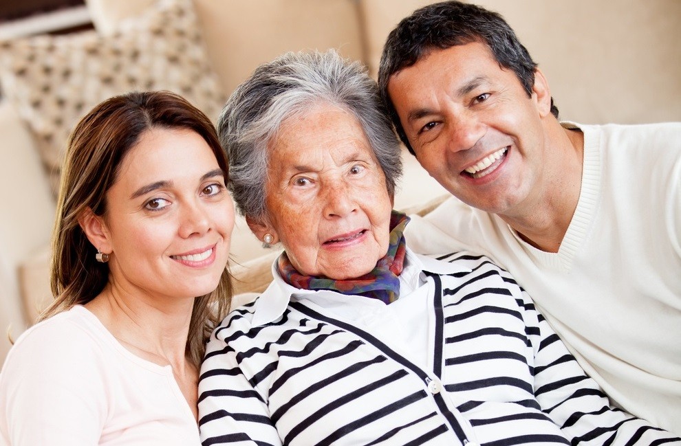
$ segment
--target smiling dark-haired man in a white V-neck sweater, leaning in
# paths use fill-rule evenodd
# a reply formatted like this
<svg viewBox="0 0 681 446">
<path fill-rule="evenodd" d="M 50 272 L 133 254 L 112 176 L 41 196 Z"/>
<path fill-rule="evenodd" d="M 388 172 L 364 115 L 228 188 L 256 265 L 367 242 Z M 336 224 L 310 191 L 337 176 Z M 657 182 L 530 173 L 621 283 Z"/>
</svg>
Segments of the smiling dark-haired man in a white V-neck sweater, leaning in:
<svg viewBox="0 0 681 446">
<path fill-rule="evenodd" d="M 456 198 L 411 247 L 491 256 L 615 403 L 681 433 L 681 124 L 561 122 L 506 21 L 435 3 L 389 35 L 398 135 Z"/>
</svg>

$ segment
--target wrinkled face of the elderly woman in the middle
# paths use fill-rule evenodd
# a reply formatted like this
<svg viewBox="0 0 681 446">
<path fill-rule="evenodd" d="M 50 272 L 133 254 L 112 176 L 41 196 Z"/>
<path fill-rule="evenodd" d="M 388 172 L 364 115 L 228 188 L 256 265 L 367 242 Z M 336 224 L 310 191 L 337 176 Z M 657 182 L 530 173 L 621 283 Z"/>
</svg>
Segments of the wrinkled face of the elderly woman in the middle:
<svg viewBox="0 0 681 446">
<path fill-rule="evenodd" d="M 286 120 L 269 166 L 261 239 L 272 233 L 310 276 L 356 278 L 374 269 L 388 249 L 392 198 L 353 115 L 317 104 Z"/>
</svg>

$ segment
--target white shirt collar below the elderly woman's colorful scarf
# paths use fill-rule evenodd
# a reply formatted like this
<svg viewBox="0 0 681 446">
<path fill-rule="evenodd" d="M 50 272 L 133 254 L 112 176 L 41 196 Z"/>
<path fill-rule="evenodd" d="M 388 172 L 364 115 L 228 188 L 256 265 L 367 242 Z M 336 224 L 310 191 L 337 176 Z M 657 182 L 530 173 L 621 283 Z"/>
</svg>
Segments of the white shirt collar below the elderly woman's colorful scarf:
<svg viewBox="0 0 681 446">
<path fill-rule="evenodd" d="M 279 258 L 275 259 L 272 263 L 272 283 L 270 283 L 270 286 L 267 287 L 255 301 L 252 320 L 253 326 L 269 324 L 270 322 L 279 319 L 279 317 L 283 315 L 288 306 L 288 302 L 290 302 L 291 297 L 294 294 L 301 295 L 329 292 L 327 290 L 300 289 L 284 282 L 283 278 L 279 275 L 279 269 L 277 268 L 278 261 Z M 409 268 L 405 267 L 402 274 L 420 275 L 423 271 L 434 274 L 455 274 L 471 271 L 471 269 L 462 267 L 460 263 L 449 263 L 437 260 L 436 258 L 422 256 L 421 254 L 415 254 L 415 252 L 411 251 L 409 248 L 407 248 L 404 263 L 405 265 L 409 265 Z"/>
</svg>

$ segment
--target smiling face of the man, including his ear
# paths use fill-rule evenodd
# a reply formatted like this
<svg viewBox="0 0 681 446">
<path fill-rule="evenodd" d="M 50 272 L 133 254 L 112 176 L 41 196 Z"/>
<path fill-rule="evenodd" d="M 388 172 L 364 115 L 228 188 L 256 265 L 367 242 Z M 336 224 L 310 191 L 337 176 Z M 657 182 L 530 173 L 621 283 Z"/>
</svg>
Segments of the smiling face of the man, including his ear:
<svg viewBox="0 0 681 446">
<path fill-rule="evenodd" d="M 388 93 L 416 158 L 444 188 L 487 212 L 531 210 L 550 156 L 541 74 L 528 96 L 513 71 L 473 42 L 431 50 L 393 74 Z"/>
</svg>

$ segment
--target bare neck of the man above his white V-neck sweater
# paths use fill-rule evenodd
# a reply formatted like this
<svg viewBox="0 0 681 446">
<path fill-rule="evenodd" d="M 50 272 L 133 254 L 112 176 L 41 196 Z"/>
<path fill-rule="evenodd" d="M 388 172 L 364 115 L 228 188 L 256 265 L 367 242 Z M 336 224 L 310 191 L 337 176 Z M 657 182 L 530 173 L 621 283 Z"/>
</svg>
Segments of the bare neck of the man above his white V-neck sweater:
<svg viewBox="0 0 681 446">
<path fill-rule="evenodd" d="M 499 215 L 530 245 L 558 252 L 577 208 L 583 169 L 584 137 L 580 131 L 550 124 L 546 136 L 549 157 L 538 193 L 525 212 Z"/>
</svg>

